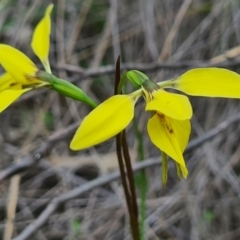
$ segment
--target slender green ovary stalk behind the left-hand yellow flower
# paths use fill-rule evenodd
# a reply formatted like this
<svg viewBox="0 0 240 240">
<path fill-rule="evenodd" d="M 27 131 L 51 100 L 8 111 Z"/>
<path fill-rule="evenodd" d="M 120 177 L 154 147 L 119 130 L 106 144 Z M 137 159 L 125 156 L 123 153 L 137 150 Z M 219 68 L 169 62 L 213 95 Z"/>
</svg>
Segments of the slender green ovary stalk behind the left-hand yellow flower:
<svg viewBox="0 0 240 240">
<path fill-rule="evenodd" d="M 42 81 L 50 83 L 50 88 L 56 92 L 66 97 L 84 102 L 93 108 L 97 107 L 97 104 L 90 97 L 88 97 L 81 88 L 75 86 L 67 80 L 57 78 L 56 76 L 44 71 L 38 71 L 36 76 Z"/>
</svg>

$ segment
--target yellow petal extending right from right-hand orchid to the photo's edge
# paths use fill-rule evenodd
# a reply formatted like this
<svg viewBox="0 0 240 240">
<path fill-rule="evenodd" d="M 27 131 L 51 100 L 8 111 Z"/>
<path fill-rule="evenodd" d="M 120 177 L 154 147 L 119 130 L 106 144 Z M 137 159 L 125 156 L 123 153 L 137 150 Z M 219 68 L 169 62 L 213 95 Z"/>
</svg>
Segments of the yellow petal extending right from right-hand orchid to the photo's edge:
<svg viewBox="0 0 240 240">
<path fill-rule="evenodd" d="M 172 81 L 193 96 L 240 98 L 240 75 L 223 68 L 196 68 Z"/>
</svg>

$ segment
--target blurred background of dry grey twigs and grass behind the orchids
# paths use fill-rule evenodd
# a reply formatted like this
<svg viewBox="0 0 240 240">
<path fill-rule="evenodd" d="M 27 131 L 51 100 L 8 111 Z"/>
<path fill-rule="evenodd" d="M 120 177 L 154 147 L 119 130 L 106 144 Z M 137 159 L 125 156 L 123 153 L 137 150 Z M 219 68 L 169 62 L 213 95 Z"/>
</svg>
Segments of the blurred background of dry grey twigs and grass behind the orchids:
<svg viewBox="0 0 240 240">
<path fill-rule="evenodd" d="M 49 3 L 2 0 L 0 5 L 0 42 L 23 51 L 40 69 L 30 42 Z M 238 0 L 52 3 L 53 73 L 74 82 L 97 102 L 113 94 L 118 55 L 123 72 L 138 69 L 157 82 L 202 66 L 240 70 Z M 190 101 L 192 145 L 185 153 L 189 177 L 178 181 L 170 163 L 165 189 L 160 152 L 146 132 L 149 115 L 144 102 L 136 106 L 145 161 L 155 161 L 154 167 L 149 162 L 145 168 L 146 239 L 240 239 L 240 101 L 201 97 Z M 0 115 L 0 176 L 11 166 L 34 160 L 21 174 L 0 183 L 0 239 L 26 231 L 54 197 L 118 170 L 113 139 L 81 152 L 69 149 L 77 123 L 90 110 L 42 89 L 22 96 Z M 137 165 L 138 142 L 132 125 L 127 134 L 133 165 Z M 34 153 L 40 153 L 40 161 Z M 16 239 L 131 239 L 119 179 L 60 202 L 31 237 Z"/>
</svg>

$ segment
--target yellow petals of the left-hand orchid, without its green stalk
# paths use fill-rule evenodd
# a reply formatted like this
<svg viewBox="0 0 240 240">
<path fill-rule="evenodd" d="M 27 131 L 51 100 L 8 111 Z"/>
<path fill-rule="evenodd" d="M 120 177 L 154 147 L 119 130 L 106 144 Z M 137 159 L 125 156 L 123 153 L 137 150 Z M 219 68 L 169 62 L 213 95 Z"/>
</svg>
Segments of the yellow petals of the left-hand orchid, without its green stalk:
<svg viewBox="0 0 240 240">
<path fill-rule="evenodd" d="M 33 51 L 42 61 L 48 73 L 51 73 L 48 53 L 52 8 L 53 4 L 47 7 L 45 16 L 36 26 L 32 38 Z M 36 87 L 50 85 L 37 77 L 39 69 L 24 53 L 9 45 L 0 44 L 0 65 L 6 71 L 0 76 L 0 112 L 4 111 L 23 93 Z"/>
</svg>

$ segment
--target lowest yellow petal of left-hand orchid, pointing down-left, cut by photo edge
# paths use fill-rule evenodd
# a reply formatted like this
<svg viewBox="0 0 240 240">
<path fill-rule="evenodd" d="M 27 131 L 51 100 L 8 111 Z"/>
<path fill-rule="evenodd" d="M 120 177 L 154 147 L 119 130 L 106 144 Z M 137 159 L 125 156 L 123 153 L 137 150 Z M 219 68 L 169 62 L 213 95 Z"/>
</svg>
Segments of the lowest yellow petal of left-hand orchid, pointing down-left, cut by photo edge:
<svg viewBox="0 0 240 240">
<path fill-rule="evenodd" d="M 0 113 L 4 111 L 11 103 L 17 100 L 23 93 L 31 90 L 31 88 L 20 89 L 20 90 L 5 90 L 0 92 Z"/>
</svg>

